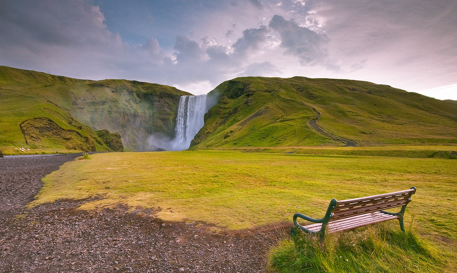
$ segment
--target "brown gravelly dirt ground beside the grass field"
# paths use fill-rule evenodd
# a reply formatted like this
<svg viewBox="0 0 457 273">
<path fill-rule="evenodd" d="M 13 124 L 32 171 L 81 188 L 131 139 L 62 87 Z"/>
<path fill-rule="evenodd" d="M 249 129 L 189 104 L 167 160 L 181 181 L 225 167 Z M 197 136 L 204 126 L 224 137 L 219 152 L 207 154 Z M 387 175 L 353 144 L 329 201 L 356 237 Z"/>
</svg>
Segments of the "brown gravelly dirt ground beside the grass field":
<svg viewBox="0 0 457 273">
<path fill-rule="evenodd" d="M 0 158 L 0 272 L 267 272 L 288 224 L 214 232 L 154 211 L 78 210 L 84 200 L 27 209 L 41 178 L 78 155 Z"/>
</svg>

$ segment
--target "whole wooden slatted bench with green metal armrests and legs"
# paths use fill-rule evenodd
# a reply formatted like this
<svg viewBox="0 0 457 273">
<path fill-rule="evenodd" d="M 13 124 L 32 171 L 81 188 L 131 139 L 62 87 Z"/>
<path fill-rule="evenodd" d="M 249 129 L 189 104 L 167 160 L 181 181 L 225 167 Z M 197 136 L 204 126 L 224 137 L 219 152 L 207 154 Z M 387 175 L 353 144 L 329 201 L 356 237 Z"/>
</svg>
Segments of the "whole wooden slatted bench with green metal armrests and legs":
<svg viewBox="0 0 457 273">
<path fill-rule="evenodd" d="M 405 232 L 403 225 L 403 215 L 406 205 L 411 201 L 411 195 L 416 192 L 415 187 L 409 190 L 384 193 L 362 198 L 338 201 L 332 199 L 327 209 L 327 213 L 322 219 L 314 219 L 296 213 L 293 215 L 293 226 L 290 229 L 292 236 L 303 230 L 307 233 L 318 234 L 323 239 L 325 232 L 335 232 L 357 227 L 374 224 L 382 221 L 398 219 L 400 228 Z M 386 212 L 385 210 L 401 207 L 397 213 Z M 313 224 L 302 226 L 297 218 L 304 219 Z"/>
</svg>

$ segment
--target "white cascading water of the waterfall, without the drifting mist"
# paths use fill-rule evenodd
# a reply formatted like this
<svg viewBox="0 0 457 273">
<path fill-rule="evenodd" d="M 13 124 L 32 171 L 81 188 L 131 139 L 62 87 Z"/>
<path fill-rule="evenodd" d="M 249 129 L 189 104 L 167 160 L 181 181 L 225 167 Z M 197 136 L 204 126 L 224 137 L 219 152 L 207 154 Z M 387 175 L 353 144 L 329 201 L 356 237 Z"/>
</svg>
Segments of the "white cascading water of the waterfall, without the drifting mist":
<svg viewBox="0 0 457 273">
<path fill-rule="evenodd" d="M 172 150 L 186 150 L 190 142 L 205 124 L 204 116 L 208 112 L 207 95 L 181 96 L 176 117 L 176 138 Z"/>
</svg>

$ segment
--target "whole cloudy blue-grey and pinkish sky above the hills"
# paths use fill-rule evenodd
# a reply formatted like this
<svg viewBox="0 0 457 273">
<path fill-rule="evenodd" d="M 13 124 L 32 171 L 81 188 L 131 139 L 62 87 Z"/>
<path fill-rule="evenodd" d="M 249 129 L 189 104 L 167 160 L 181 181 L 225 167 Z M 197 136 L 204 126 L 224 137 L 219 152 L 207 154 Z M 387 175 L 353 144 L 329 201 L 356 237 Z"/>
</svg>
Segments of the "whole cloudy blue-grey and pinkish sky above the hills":
<svg viewBox="0 0 457 273">
<path fill-rule="evenodd" d="M 0 65 L 205 94 L 242 76 L 457 100 L 455 0 L 0 0 Z"/>
</svg>

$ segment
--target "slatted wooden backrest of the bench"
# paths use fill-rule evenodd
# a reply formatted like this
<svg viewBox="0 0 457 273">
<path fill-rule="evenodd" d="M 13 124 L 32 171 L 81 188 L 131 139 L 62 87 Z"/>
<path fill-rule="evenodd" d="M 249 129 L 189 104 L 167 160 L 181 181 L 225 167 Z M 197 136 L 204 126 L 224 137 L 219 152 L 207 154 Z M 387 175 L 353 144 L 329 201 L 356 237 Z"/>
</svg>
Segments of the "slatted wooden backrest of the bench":
<svg viewBox="0 0 457 273">
<path fill-rule="evenodd" d="M 415 188 L 411 188 L 409 190 L 338 201 L 330 221 L 406 206 L 411 201 L 411 195 L 415 191 Z"/>
</svg>

